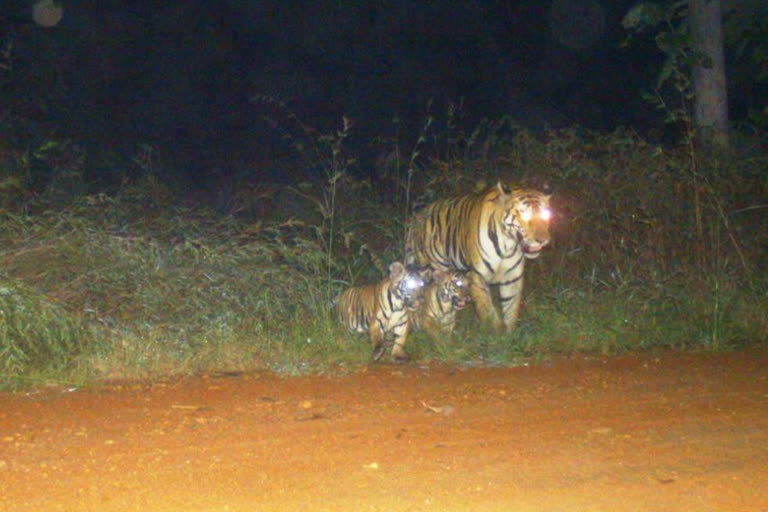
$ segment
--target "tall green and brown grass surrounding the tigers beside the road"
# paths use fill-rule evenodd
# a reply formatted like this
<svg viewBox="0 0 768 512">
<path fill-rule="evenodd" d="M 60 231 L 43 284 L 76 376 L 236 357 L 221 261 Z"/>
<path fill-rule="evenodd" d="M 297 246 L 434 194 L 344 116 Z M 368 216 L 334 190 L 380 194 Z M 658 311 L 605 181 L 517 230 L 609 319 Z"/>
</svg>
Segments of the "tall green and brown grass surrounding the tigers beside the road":
<svg viewBox="0 0 768 512">
<path fill-rule="evenodd" d="M 768 341 L 768 155 L 693 176 L 685 149 L 631 133 L 484 123 L 432 160 L 425 130 L 374 185 L 350 175 L 343 133 L 317 148 L 330 156 L 313 182 L 238 184 L 236 215 L 183 206 L 149 171 L 114 194 L 0 212 L 0 385 L 365 364 L 367 340 L 336 325 L 330 298 L 402 259 L 404 204 L 498 178 L 555 191 L 553 243 L 526 269 L 518 328 L 494 335 L 465 311 L 453 343 L 413 334 L 416 358 Z"/>
</svg>

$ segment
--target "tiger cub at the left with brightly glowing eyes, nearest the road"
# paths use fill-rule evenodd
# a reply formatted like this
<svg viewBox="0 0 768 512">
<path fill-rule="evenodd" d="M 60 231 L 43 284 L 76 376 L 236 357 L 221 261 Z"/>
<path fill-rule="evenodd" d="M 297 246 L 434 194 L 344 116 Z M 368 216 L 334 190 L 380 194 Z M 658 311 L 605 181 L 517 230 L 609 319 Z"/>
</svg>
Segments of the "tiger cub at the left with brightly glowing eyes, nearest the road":
<svg viewBox="0 0 768 512">
<path fill-rule="evenodd" d="M 335 303 L 336 315 L 351 332 L 367 332 L 378 361 L 387 344 L 392 343 L 392 359 L 407 361 L 405 350 L 409 317 L 421 304 L 424 281 L 396 261 L 389 266 L 389 276 L 367 286 L 348 288 Z"/>
</svg>

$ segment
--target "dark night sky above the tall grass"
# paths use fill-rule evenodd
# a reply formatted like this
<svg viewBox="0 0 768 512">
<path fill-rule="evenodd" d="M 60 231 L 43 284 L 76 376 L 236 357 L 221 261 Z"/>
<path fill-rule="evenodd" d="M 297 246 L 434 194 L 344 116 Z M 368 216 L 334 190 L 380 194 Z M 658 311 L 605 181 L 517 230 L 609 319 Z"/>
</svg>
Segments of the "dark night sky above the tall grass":
<svg viewBox="0 0 768 512">
<path fill-rule="evenodd" d="M 2 23 L 20 63 L 51 69 L 48 120 L 125 151 L 153 144 L 206 174 L 285 150 L 264 117 L 285 119 L 260 95 L 321 132 L 346 115 L 361 153 L 395 132 L 395 117 L 415 136 L 430 99 L 444 118 L 463 98 L 470 130 L 502 115 L 533 129 L 642 128 L 654 114 L 639 91 L 662 57 L 650 44 L 620 48 L 631 5 L 71 0 L 44 29 L 17 0 Z"/>
</svg>

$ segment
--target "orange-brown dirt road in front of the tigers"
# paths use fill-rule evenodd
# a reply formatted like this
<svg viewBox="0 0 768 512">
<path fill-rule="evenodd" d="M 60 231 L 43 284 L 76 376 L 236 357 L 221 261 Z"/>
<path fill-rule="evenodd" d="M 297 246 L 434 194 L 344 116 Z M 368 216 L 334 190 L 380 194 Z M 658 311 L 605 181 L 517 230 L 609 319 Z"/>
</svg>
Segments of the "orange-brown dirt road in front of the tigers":
<svg viewBox="0 0 768 512">
<path fill-rule="evenodd" d="M 768 511 L 768 350 L 0 394 L 3 511 Z"/>
</svg>

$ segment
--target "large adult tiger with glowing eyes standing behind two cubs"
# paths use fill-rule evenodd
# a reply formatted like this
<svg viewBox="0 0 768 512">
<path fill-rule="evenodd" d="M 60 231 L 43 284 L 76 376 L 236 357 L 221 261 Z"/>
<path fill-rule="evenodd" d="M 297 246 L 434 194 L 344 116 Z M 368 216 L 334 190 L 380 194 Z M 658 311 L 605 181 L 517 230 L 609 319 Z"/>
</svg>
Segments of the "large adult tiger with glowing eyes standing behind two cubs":
<svg viewBox="0 0 768 512">
<path fill-rule="evenodd" d="M 406 261 L 469 272 L 480 319 L 510 331 L 520 309 L 525 259 L 537 258 L 549 243 L 549 197 L 499 182 L 479 194 L 435 201 L 410 222 Z M 498 307 L 492 286 L 498 289 Z"/>
</svg>

